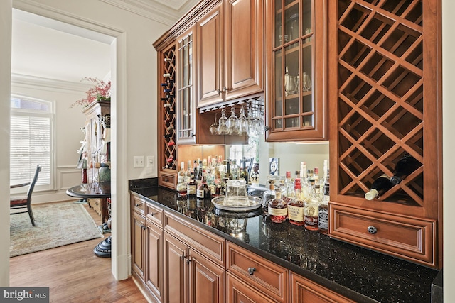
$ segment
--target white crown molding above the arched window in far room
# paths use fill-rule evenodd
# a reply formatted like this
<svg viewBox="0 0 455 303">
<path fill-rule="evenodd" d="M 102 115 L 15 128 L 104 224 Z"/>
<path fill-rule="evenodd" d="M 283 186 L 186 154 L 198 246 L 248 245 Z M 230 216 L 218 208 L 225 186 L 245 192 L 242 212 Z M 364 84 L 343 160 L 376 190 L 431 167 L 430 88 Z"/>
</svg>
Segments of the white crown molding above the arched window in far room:
<svg viewBox="0 0 455 303">
<path fill-rule="evenodd" d="M 92 87 L 91 84 L 80 82 L 69 82 L 57 79 L 49 79 L 43 77 L 36 77 L 31 75 L 11 74 L 11 84 L 22 87 L 32 87 L 35 89 L 45 89 L 48 91 L 72 91 L 72 92 L 85 92 Z"/>
</svg>

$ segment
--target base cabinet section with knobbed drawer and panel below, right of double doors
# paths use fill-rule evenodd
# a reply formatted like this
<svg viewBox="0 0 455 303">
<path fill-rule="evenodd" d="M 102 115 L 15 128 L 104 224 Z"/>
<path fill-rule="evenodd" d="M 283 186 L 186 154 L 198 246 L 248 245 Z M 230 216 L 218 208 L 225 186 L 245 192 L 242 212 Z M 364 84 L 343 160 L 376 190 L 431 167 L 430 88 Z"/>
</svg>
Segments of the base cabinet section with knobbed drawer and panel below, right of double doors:
<svg viewBox="0 0 455 303">
<path fill-rule="evenodd" d="M 272 299 L 270 302 L 287 302 L 287 269 L 228 242 L 227 270 L 228 285 L 232 286 L 228 286 L 228 302 L 242 301 L 240 293 L 250 293 L 247 298 L 252 302 L 257 296 Z"/>
</svg>

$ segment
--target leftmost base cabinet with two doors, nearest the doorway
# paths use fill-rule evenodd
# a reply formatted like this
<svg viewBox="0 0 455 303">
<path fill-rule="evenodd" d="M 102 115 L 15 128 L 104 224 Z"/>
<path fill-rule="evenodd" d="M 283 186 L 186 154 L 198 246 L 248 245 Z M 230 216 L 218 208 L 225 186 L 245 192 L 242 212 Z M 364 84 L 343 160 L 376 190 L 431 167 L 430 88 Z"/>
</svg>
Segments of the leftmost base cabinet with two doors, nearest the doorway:
<svg viewBox="0 0 455 303">
<path fill-rule="evenodd" d="M 132 271 L 156 302 L 162 302 L 163 277 L 163 210 L 144 199 L 131 195 L 132 203 Z"/>
</svg>

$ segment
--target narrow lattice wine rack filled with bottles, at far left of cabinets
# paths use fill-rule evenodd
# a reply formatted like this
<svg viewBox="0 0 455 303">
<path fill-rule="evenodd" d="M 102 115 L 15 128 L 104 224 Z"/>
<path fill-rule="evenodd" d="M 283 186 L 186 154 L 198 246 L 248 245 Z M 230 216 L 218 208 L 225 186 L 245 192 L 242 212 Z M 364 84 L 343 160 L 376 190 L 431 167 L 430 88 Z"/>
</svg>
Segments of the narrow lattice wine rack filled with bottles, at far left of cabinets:
<svg viewBox="0 0 455 303">
<path fill-rule="evenodd" d="M 163 117 L 161 167 L 163 170 L 177 170 L 176 157 L 176 49 L 175 45 L 162 53 L 163 79 L 161 85 L 161 111 Z"/>
</svg>

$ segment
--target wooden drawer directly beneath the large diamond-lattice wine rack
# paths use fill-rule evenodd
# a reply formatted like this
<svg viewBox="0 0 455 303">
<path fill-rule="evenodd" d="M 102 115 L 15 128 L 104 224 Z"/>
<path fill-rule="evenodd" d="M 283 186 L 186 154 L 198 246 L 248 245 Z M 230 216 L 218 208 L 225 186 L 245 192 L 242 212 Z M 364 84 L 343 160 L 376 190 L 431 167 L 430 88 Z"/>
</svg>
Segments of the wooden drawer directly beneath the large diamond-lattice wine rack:
<svg viewBox="0 0 455 303">
<path fill-rule="evenodd" d="M 330 206 L 330 236 L 383 253 L 435 265 L 436 221 L 410 218 L 339 204 Z"/>
</svg>

